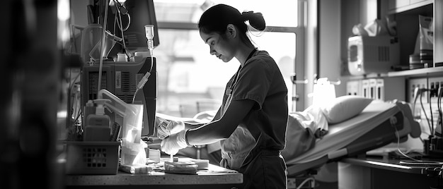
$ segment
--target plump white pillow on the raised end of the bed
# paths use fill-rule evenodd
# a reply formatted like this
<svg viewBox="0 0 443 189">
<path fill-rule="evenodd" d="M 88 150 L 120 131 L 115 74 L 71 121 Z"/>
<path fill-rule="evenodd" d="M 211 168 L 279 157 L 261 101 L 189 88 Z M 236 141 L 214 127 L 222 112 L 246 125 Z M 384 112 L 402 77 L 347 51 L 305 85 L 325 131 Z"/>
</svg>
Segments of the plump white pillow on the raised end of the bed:
<svg viewBox="0 0 443 189">
<path fill-rule="evenodd" d="M 360 114 L 372 99 L 355 95 L 345 95 L 335 98 L 332 102 L 321 106 L 328 123 L 340 123 Z"/>
</svg>

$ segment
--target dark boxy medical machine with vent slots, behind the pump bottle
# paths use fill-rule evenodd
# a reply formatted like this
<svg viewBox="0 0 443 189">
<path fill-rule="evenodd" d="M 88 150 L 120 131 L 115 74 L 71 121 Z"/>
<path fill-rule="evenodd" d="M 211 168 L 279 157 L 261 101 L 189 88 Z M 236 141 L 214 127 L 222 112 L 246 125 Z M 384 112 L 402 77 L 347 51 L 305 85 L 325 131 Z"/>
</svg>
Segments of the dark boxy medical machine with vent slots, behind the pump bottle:
<svg viewBox="0 0 443 189">
<path fill-rule="evenodd" d="M 156 59 L 143 59 L 139 62 L 118 62 L 103 61 L 101 87 L 115 94 L 127 104 L 132 104 L 132 99 L 136 90 L 137 83 L 142 79 L 146 72 L 151 75 L 142 90 L 137 92 L 134 102 L 141 102 L 143 106 L 143 128 L 142 136 L 154 135 L 154 124 L 156 115 L 156 97 L 157 97 L 157 73 Z M 97 99 L 98 94 L 98 74 L 99 63 L 86 63 L 81 71 L 81 104 L 85 106 L 89 99 Z M 113 104 L 115 105 L 115 104 Z M 122 125 L 122 117 L 105 110 L 105 114 L 110 116 L 111 121 Z M 112 123 L 112 124 L 113 124 Z"/>
</svg>

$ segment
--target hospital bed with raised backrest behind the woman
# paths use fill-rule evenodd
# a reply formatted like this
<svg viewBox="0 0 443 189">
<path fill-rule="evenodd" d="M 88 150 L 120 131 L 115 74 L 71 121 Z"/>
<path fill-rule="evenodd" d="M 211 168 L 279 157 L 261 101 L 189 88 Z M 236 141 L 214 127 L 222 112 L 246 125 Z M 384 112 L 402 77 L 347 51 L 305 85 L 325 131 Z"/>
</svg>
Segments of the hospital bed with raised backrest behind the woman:
<svg viewBox="0 0 443 189">
<path fill-rule="evenodd" d="M 291 119 L 291 116 L 289 116 Z M 288 129 L 291 127 L 288 121 Z M 408 135 L 417 138 L 420 126 L 413 121 L 410 107 L 402 102 L 371 102 L 361 113 L 343 122 L 330 124 L 326 134 L 316 138 L 309 150 L 296 157 L 285 157 L 288 176 L 315 174 L 321 166 L 344 157 L 365 154 L 369 150 L 397 142 Z M 288 151 L 297 150 L 297 143 L 287 137 Z M 305 146 L 306 147 L 306 146 Z"/>
</svg>

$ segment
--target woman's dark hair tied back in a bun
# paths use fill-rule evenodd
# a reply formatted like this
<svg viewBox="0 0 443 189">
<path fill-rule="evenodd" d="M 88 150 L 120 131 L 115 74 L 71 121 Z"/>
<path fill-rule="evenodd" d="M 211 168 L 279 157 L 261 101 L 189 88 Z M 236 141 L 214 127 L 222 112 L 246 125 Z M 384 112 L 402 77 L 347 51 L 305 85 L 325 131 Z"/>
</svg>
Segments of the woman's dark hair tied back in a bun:
<svg viewBox="0 0 443 189">
<path fill-rule="evenodd" d="M 243 37 L 247 37 L 246 20 L 249 20 L 249 24 L 257 30 L 263 31 L 266 28 L 265 19 L 261 13 L 253 11 L 240 13 L 236 8 L 225 4 L 208 8 L 200 17 L 198 28 L 205 33 L 217 32 L 222 35 L 226 32 L 226 26 L 233 24 L 240 30 Z"/>
</svg>

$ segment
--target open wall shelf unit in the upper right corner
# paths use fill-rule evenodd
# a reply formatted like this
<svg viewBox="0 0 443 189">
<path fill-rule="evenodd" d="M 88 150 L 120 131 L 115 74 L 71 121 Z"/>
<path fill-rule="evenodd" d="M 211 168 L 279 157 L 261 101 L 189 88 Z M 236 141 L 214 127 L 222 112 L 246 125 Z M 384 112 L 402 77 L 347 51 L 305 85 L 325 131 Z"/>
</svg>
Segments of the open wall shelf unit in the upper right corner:
<svg viewBox="0 0 443 189">
<path fill-rule="evenodd" d="M 443 1 L 442 0 L 389 0 L 388 14 L 391 19 L 396 20 L 398 41 L 400 47 L 400 64 L 408 66 L 409 55 L 413 54 L 415 42 L 419 32 L 418 16 L 430 16 L 434 18 L 434 65 L 432 68 L 419 68 L 407 71 L 392 71 L 386 76 L 397 77 L 429 77 L 442 75 L 443 68 Z"/>
</svg>

